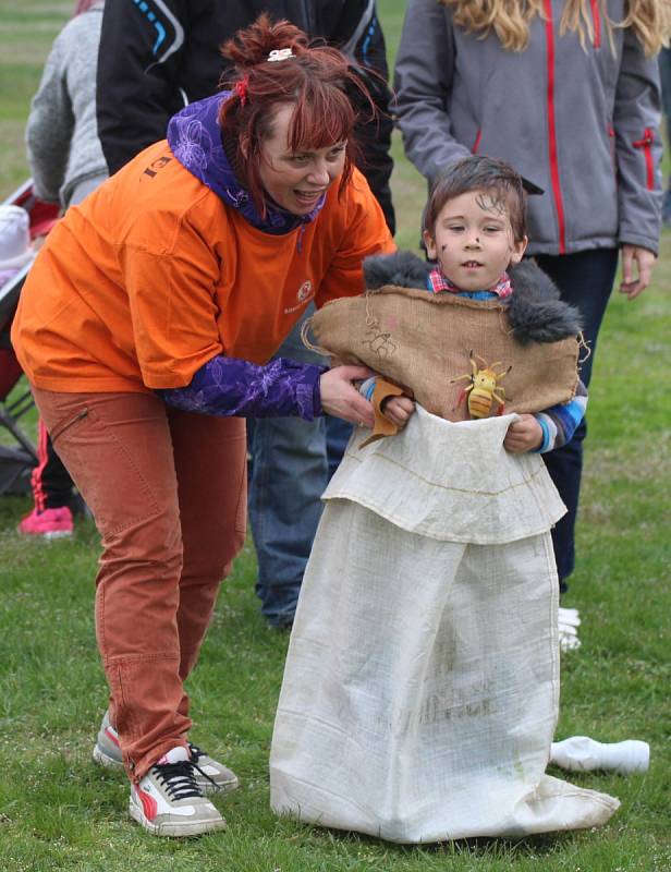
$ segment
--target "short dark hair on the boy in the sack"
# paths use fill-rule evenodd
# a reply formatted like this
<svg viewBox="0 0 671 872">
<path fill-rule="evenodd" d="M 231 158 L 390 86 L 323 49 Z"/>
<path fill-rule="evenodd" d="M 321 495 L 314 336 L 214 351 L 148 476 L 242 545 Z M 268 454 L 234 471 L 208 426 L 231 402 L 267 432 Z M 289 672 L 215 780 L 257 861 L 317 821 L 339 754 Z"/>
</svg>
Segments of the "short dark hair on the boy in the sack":
<svg viewBox="0 0 671 872">
<path fill-rule="evenodd" d="M 504 160 L 481 155 L 471 155 L 452 164 L 436 179 L 424 209 L 424 230 L 432 237 L 446 203 L 469 191 L 495 191 L 505 201 L 515 242 L 525 237 L 526 191 L 522 177 Z"/>
</svg>

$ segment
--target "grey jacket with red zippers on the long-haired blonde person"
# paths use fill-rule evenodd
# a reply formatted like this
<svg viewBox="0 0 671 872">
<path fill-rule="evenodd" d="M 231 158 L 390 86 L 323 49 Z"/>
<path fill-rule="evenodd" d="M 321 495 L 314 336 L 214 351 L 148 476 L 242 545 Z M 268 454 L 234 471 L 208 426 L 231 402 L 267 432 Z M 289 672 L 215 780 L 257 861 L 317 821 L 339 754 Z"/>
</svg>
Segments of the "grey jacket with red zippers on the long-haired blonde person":
<svg viewBox="0 0 671 872">
<path fill-rule="evenodd" d="M 524 51 L 496 34 L 481 39 L 437 0 L 410 0 L 396 58 L 399 125 L 408 158 L 429 181 L 471 153 L 508 160 L 545 193 L 529 197 L 532 254 L 623 243 L 657 253 L 661 214 L 660 87 L 631 28 L 613 28 L 611 51 L 598 4 L 595 38 L 530 24 Z M 607 0 L 622 21 L 623 0 Z M 553 22 L 553 23 L 552 23 Z"/>
</svg>

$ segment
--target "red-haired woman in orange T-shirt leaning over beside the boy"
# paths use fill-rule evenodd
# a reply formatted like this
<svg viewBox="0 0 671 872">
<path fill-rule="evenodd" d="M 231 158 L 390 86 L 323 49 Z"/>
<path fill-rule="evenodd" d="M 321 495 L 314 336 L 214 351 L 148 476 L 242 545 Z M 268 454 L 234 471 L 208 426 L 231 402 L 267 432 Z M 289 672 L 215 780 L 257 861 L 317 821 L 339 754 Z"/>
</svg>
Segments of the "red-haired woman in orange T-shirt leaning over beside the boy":
<svg viewBox="0 0 671 872">
<path fill-rule="evenodd" d="M 244 540 L 241 417 L 373 423 L 352 386 L 366 370 L 267 361 L 310 301 L 361 293 L 362 259 L 394 247 L 352 162 L 345 86 L 363 85 L 345 57 L 267 17 L 224 50 L 232 90 L 70 209 L 12 334 L 102 537 L 95 756 L 123 761 L 157 835 L 222 828 L 205 795 L 237 783 L 190 743 L 183 681 Z"/>
</svg>

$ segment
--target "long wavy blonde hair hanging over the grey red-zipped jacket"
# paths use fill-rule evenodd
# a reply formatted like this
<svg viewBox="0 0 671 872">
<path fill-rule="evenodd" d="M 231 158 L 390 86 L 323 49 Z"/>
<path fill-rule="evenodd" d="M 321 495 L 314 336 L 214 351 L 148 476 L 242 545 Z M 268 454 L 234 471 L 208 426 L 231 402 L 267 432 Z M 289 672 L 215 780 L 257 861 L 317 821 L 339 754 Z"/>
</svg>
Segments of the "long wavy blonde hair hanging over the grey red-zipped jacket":
<svg viewBox="0 0 671 872">
<path fill-rule="evenodd" d="M 539 15 L 547 20 L 544 0 L 439 0 L 453 11 L 454 23 L 467 33 L 481 34 L 484 39 L 493 29 L 508 51 L 523 51 L 529 39 L 529 22 Z M 613 22 L 607 12 L 607 0 L 596 0 L 601 21 L 613 46 L 613 27 L 631 27 L 647 57 L 669 44 L 671 35 L 671 3 L 669 0 L 629 0 L 626 16 Z M 590 0 L 566 0 L 559 32 L 577 33 L 581 45 L 594 43 L 595 29 Z"/>
</svg>

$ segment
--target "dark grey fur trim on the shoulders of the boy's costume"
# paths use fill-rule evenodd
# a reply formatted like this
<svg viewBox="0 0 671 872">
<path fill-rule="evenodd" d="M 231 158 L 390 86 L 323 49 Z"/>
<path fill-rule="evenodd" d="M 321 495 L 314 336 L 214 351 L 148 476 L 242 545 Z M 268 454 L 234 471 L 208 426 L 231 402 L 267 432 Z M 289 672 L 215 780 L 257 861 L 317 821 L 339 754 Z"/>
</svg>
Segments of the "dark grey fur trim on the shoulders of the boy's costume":
<svg viewBox="0 0 671 872">
<path fill-rule="evenodd" d="M 432 265 L 413 252 L 378 254 L 364 261 L 366 288 L 385 284 L 426 291 Z M 514 293 L 508 304 L 508 320 L 514 338 L 528 342 L 558 342 L 581 331 L 578 311 L 560 300 L 559 289 L 535 261 L 523 261 L 508 270 Z"/>
</svg>

